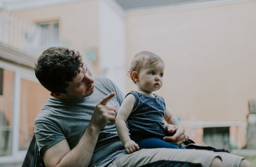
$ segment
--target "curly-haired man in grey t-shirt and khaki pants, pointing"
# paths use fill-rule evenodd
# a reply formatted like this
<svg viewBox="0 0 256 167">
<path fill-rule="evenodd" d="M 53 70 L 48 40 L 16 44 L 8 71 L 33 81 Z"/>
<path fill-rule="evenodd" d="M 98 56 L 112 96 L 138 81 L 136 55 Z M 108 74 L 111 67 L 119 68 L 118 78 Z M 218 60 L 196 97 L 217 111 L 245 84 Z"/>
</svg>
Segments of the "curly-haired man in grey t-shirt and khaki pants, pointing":
<svg viewBox="0 0 256 167">
<path fill-rule="evenodd" d="M 141 149 L 126 154 L 115 129 L 115 112 L 124 94 L 108 78 L 92 78 L 79 52 L 48 48 L 38 58 L 36 78 L 51 96 L 35 119 L 36 142 L 45 166 L 141 166 L 154 161 L 188 161 L 202 166 L 250 166 L 243 157 L 189 149 Z M 173 122 L 175 124 L 175 122 Z M 180 145 L 184 129 L 168 125 Z M 231 162 L 230 162 L 231 161 Z M 235 165 L 235 164 L 234 164 Z"/>
</svg>

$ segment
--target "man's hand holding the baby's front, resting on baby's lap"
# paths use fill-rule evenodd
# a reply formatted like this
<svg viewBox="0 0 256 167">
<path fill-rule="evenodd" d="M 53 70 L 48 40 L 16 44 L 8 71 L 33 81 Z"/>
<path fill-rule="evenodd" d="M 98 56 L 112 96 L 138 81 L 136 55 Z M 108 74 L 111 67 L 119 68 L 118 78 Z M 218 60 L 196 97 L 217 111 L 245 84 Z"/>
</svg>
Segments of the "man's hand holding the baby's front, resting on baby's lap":
<svg viewBox="0 0 256 167">
<path fill-rule="evenodd" d="M 165 136 L 163 140 L 169 143 L 173 143 L 175 145 L 180 145 L 181 143 L 188 140 L 188 135 L 185 133 L 185 130 L 183 127 L 175 126 L 172 124 L 168 124 L 166 126 L 166 129 L 168 133 L 172 136 Z"/>
</svg>

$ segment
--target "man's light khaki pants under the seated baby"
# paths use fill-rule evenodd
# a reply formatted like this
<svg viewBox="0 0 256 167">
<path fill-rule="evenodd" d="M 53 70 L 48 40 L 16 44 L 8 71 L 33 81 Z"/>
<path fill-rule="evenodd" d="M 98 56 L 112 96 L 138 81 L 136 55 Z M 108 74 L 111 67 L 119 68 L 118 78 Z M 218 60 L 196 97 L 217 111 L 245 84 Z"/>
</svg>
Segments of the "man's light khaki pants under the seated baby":
<svg viewBox="0 0 256 167">
<path fill-rule="evenodd" d="M 204 167 L 210 166 L 214 157 L 221 157 L 223 166 L 239 166 L 243 157 L 226 152 L 212 152 L 195 149 L 141 149 L 132 154 L 120 156 L 109 167 L 138 167 L 143 164 L 153 163 L 159 160 L 186 161 L 200 163 Z"/>
</svg>

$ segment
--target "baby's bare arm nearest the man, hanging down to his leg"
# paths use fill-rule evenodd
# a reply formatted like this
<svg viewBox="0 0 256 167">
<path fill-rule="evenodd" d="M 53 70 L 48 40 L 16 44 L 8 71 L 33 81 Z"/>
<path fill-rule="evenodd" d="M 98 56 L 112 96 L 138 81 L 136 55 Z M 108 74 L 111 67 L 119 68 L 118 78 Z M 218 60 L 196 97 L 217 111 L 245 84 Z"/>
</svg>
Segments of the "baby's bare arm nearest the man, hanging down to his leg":
<svg viewBox="0 0 256 167">
<path fill-rule="evenodd" d="M 140 149 L 138 144 L 135 143 L 133 140 L 131 140 L 125 124 L 127 118 L 132 112 L 134 103 L 135 103 L 135 97 L 132 94 L 129 94 L 124 99 L 122 105 L 120 106 L 118 113 L 116 115 L 116 121 L 115 121 L 118 136 L 122 141 L 122 143 L 124 144 L 124 147 L 128 154 L 131 154 L 132 152 Z"/>
</svg>

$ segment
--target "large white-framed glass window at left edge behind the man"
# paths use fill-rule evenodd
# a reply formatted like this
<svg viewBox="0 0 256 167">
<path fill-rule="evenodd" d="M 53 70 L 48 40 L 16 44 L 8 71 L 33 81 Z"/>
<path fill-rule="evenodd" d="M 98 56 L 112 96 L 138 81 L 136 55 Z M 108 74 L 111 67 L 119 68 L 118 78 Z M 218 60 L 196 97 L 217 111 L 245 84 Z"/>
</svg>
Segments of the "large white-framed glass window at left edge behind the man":
<svg viewBox="0 0 256 167">
<path fill-rule="evenodd" d="M 28 70 L 0 61 L 0 166 L 22 161 L 34 133 L 34 120 L 50 92 Z"/>
</svg>

